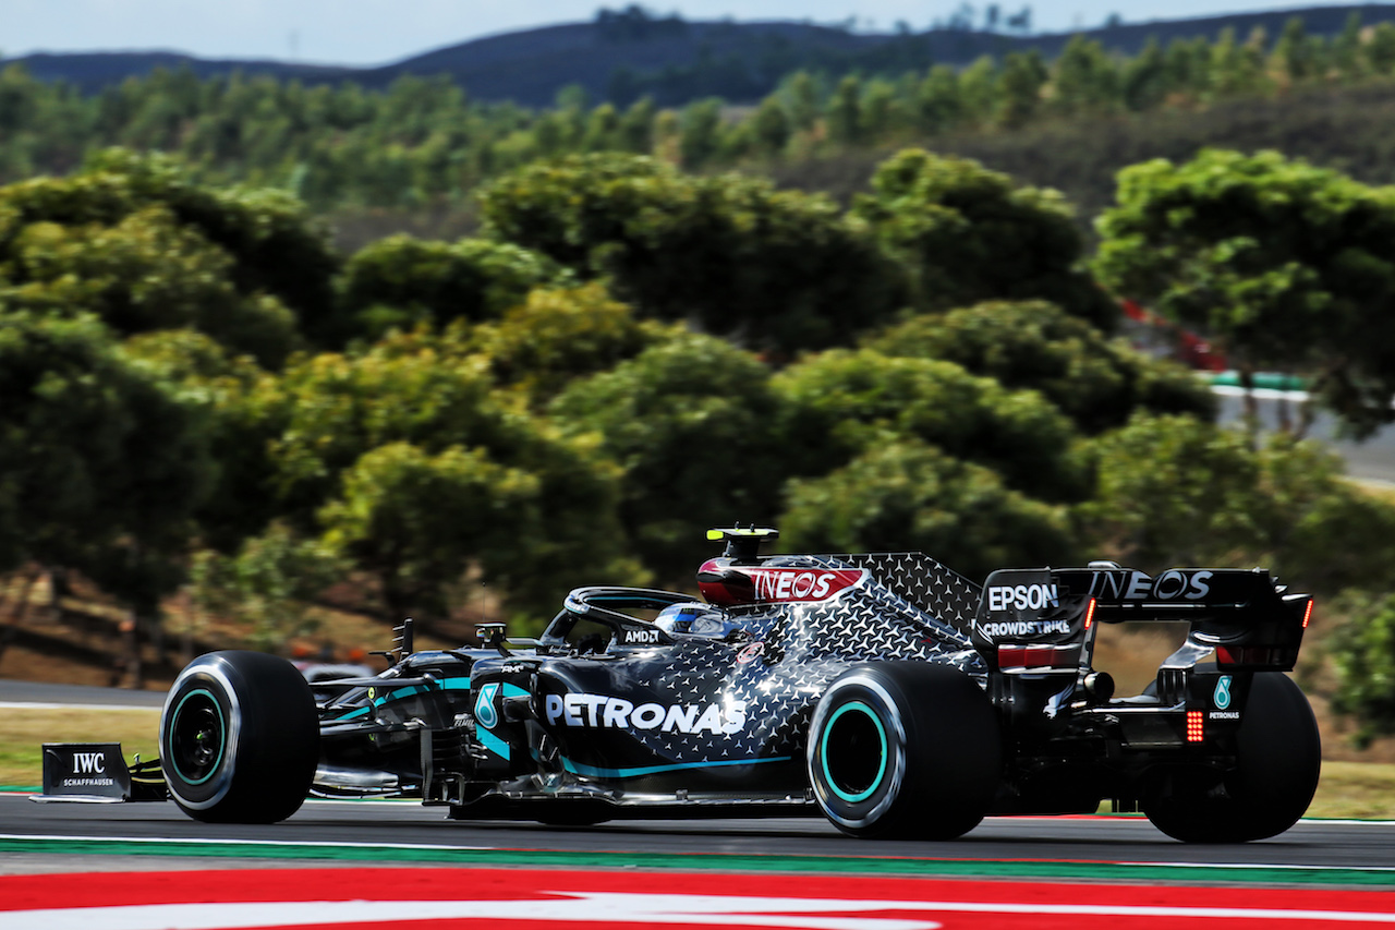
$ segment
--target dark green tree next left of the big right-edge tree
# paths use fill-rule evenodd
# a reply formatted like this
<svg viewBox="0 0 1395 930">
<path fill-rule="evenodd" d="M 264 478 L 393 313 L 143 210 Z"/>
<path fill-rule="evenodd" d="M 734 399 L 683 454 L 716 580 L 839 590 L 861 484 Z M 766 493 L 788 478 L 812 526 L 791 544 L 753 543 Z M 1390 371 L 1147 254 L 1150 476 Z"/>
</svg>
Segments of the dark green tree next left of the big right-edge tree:
<svg viewBox="0 0 1395 930">
<path fill-rule="evenodd" d="M 921 149 L 883 162 L 872 191 L 855 212 L 910 268 L 921 307 L 1035 297 L 1113 325 L 1117 310 L 1080 268 L 1084 243 L 1056 191 Z"/>
</svg>

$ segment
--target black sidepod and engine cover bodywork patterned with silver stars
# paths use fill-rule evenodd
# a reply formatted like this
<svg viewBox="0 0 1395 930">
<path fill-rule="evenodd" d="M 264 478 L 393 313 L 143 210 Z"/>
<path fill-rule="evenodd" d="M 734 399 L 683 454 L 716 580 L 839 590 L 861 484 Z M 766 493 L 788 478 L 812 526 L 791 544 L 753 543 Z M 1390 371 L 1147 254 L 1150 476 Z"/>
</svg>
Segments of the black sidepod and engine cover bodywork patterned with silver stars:
<svg viewBox="0 0 1395 930">
<path fill-rule="evenodd" d="M 597 744 L 598 730 L 564 728 L 561 736 L 575 774 L 654 775 L 704 760 L 731 767 L 721 771 L 714 767 L 709 772 L 714 779 L 735 781 L 756 776 L 737 764 L 741 760 L 781 757 L 802 767 L 813 708 L 848 667 L 869 660 L 919 660 L 949 665 L 975 677 L 986 673 L 982 658 L 957 628 L 960 623 L 967 627 L 978 606 L 976 588 L 925 556 L 776 556 L 762 567 L 855 567 L 868 570 L 870 578 L 823 602 L 732 607 L 730 616 L 745 630 L 745 637 L 732 642 L 679 637 L 670 648 L 608 663 L 607 681 L 636 686 L 611 691 L 618 697 L 635 704 L 741 702 L 745 723 L 735 733 L 629 729 L 628 736 L 650 755 L 626 758 L 626 764 L 633 764 L 625 769 L 614 765 L 614 744 Z M 756 644 L 759 648 L 753 648 Z M 583 683 L 587 677 L 583 662 L 568 665 L 569 687 L 601 693 Z"/>
</svg>

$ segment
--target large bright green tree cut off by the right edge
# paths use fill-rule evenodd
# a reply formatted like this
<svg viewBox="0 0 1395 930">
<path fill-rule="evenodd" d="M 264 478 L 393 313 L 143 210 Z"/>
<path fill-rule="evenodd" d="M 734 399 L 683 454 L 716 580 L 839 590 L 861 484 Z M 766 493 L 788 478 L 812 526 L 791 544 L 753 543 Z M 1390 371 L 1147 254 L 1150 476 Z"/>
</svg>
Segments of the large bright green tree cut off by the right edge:
<svg viewBox="0 0 1395 930">
<path fill-rule="evenodd" d="M 1095 271 L 1221 344 L 1249 377 L 1313 376 L 1355 434 L 1395 419 L 1395 189 L 1278 152 L 1204 151 L 1119 176 Z"/>
</svg>

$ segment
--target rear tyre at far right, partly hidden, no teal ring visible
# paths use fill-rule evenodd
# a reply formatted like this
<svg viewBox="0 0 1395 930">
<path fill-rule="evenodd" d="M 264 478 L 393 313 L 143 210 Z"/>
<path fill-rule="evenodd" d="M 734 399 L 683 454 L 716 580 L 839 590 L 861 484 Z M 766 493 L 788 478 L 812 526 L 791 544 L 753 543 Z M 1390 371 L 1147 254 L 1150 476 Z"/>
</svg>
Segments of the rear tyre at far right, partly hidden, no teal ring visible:
<svg viewBox="0 0 1395 930">
<path fill-rule="evenodd" d="M 1275 836 L 1297 822 L 1317 790 L 1322 746 L 1313 708 L 1288 676 L 1261 672 L 1236 735 L 1236 767 L 1223 776 L 1176 771 L 1144 797 L 1154 827 L 1193 843 Z"/>
</svg>

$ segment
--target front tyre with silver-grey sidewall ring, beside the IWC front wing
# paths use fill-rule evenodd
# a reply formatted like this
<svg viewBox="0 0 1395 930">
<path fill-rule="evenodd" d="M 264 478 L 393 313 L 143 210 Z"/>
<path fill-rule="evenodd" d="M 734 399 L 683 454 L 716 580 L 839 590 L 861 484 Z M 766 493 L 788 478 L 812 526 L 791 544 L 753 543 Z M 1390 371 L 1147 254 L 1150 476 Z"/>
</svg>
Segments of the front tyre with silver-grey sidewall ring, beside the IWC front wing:
<svg viewBox="0 0 1395 930">
<path fill-rule="evenodd" d="M 310 686 L 290 662 L 211 652 L 174 680 L 160 714 L 170 796 L 205 822 L 273 824 L 294 814 L 319 761 Z"/>
</svg>

